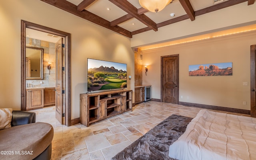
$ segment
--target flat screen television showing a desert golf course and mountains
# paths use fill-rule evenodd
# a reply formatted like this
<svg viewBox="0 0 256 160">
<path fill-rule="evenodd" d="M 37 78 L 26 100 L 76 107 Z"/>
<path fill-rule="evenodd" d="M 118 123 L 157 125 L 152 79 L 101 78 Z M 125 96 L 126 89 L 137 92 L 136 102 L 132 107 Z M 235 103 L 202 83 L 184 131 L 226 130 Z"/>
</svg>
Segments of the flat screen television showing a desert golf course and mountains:
<svg viewBox="0 0 256 160">
<path fill-rule="evenodd" d="M 87 59 L 87 90 L 127 88 L 127 64 Z"/>
</svg>

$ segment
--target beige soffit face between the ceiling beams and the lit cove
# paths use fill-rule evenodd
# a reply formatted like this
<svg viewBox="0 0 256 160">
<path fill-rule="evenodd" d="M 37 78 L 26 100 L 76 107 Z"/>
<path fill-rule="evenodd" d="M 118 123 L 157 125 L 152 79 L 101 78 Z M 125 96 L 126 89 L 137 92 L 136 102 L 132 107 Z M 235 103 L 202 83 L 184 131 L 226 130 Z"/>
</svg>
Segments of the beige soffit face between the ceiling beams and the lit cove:
<svg viewBox="0 0 256 160">
<path fill-rule="evenodd" d="M 256 3 L 247 5 L 247 1 L 221 10 L 196 16 L 196 20 L 180 21 L 158 28 L 158 31 L 146 31 L 132 36 L 131 47 L 141 47 L 166 42 L 182 37 L 191 37 L 212 33 L 238 26 L 256 24 Z M 154 38 L 153 38 L 154 37 Z"/>
</svg>

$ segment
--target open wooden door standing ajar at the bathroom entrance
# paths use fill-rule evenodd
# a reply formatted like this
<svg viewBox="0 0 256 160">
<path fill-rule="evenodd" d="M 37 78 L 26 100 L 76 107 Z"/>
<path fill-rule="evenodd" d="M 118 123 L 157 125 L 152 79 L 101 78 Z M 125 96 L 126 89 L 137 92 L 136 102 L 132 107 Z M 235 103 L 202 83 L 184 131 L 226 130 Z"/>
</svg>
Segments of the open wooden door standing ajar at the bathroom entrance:
<svg viewBox="0 0 256 160">
<path fill-rule="evenodd" d="M 58 119 L 58 121 L 62 124 L 64 124 L 64 97 L 65 93 L 62 93 L 62 90 L 64 91 L 64 84 L 63 84 L 63 71 L 62 71 L 62 65 L 63 65 L 63 38 L 61 38 L 56 43 L 56 95 L 55 95 L 55 103 L 56 103 L 56 111 L 55 111 L 55 117 Z M 65 91 L 64 91 L 65 92 Z"/>
</svg>

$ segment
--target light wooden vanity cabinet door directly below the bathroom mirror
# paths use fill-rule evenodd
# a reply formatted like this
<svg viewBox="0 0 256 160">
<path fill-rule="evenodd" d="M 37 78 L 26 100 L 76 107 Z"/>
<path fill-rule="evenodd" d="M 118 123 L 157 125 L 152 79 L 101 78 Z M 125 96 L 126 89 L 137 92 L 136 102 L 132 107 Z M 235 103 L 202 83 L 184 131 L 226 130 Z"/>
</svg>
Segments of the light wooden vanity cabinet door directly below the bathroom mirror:
<svg viewBox="0 0 256 160">
<path fill-rule="evenodd" d="M 30 90 L 30 108 L 37 108 L 37 107 L 43 107 L 44 106 L 44 89 L 33 89 Z"/>
</svg>

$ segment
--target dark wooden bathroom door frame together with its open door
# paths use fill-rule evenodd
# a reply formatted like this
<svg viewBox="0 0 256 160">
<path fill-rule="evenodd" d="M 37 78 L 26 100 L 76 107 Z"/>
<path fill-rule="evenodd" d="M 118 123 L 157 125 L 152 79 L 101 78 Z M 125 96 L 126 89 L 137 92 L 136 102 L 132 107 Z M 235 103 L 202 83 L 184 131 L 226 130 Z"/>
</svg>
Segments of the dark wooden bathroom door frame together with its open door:
<svg viewBox="0 0 256 160">
<path fill-rule="evenodd" d="M 71 125 L 71 91 L 70 91 L 70 33 L 49 27 L 21 21 L 21 110 L 26 110 L 26 29 L 35 29 L 63 37 L 56 47 L 56 118 L 61 124 Z M 63 44 L 65 42 L 65 45 Z M 58 53 L 58 54 L 57 54 Z M 49 70 L 50 71 L 50 70 Z M 61 83 L 60 83 L 61 82 Z"/>
</svg>

